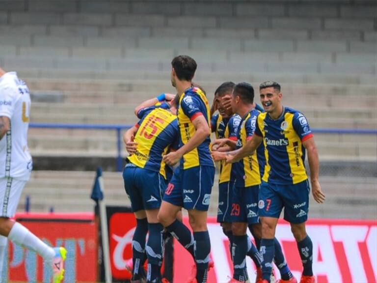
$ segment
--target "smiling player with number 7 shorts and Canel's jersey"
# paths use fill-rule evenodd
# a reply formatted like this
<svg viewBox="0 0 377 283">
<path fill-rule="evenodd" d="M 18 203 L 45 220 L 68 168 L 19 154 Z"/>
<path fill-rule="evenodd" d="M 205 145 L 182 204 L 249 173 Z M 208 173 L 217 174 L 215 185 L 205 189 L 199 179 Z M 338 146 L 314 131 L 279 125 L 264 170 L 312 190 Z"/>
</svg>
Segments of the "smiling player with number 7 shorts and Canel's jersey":
<svg viewBox="0 0 377 283">
<path fill-rule="evenodd" d="M 262 142 L 265 145 L 266 167 L 258 203 L 262 221 L 263 283 L 269 283 L 274 255 L 273 237 L 283 208 L 284 219 L 291 224 L 302 260 L 300 283 L 314 283 L 313 244 L 305 229 L 310 187 L 304 160 L 307 150 L 313 197 L 322 203 L 325 196 L 318 180 L 317 147 L 305 116 L 282 105 L 280 85 L 268 81 L 262 83 L 259 89 L 266 113 L 258 115 L 253 138 L 235 154 L 230 154 L 227 162 L 237 162 L 253 154 Z"/>
</svg>

